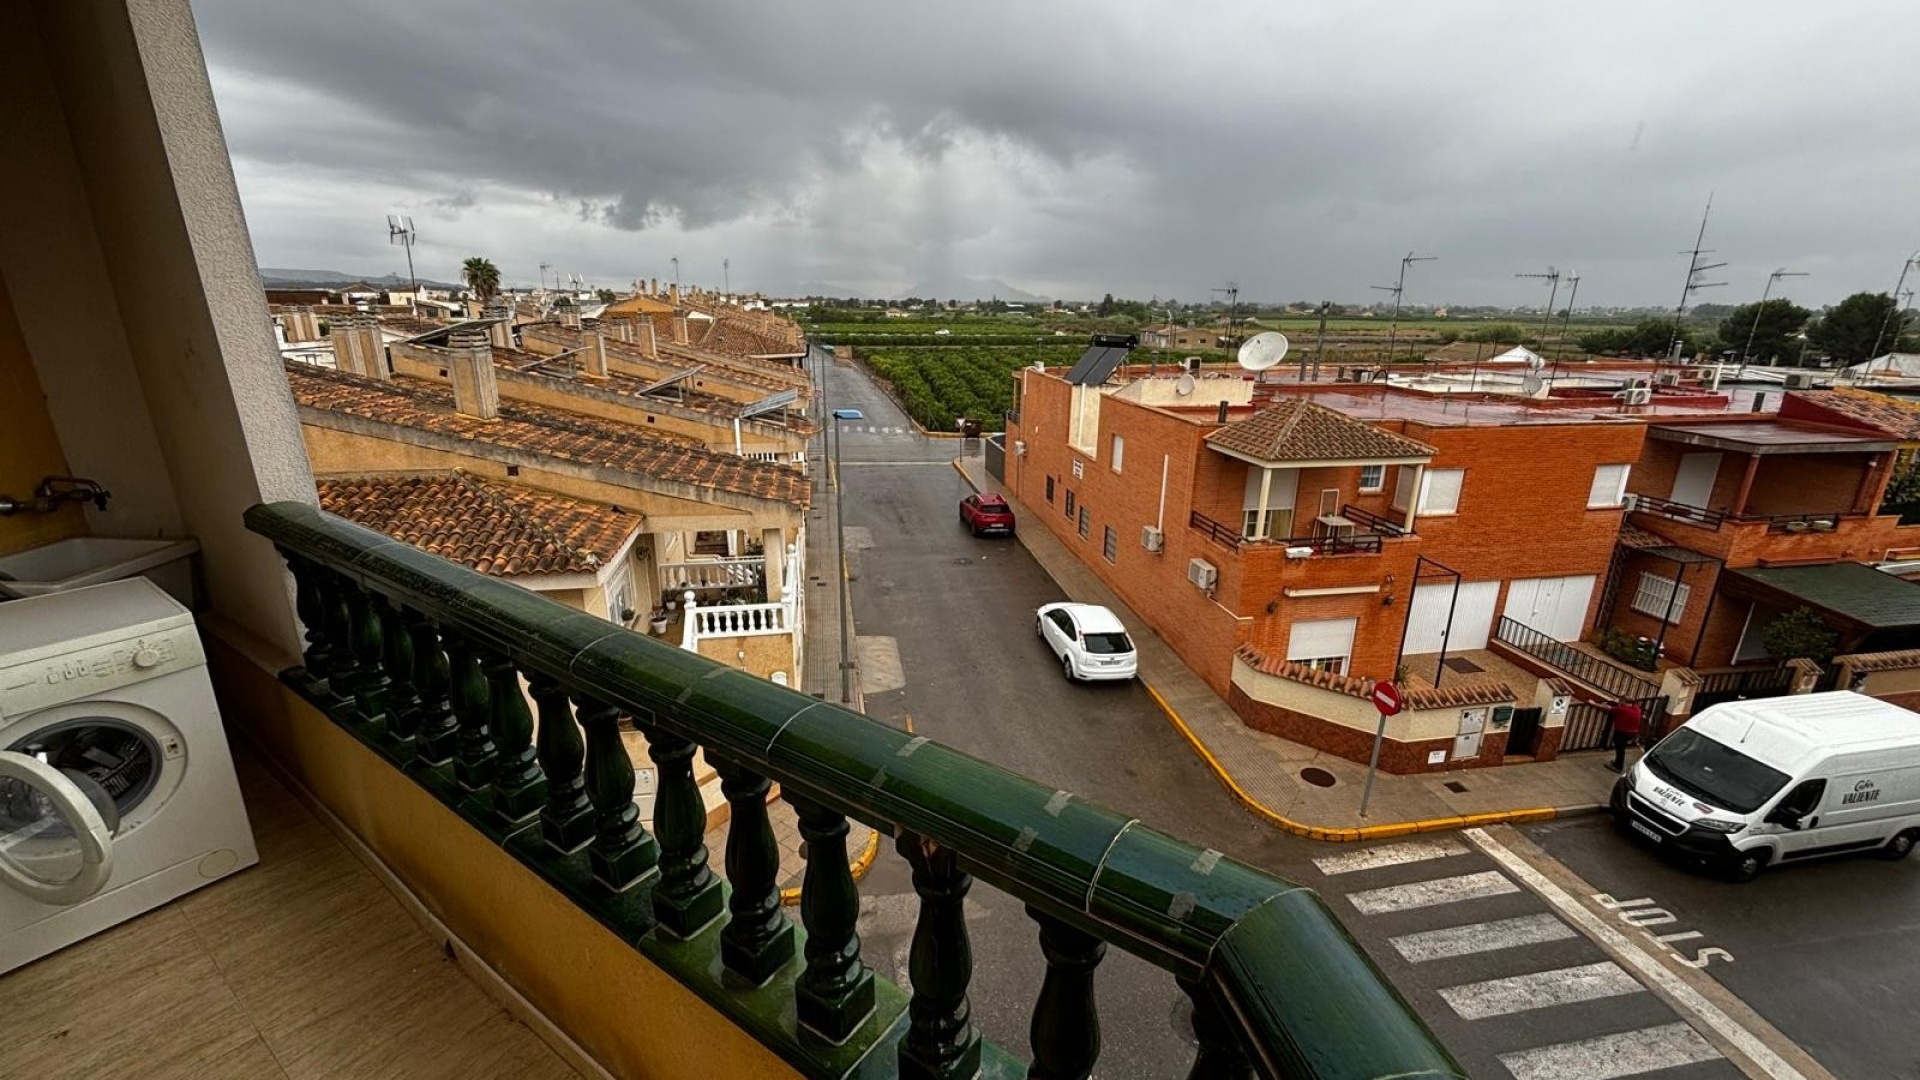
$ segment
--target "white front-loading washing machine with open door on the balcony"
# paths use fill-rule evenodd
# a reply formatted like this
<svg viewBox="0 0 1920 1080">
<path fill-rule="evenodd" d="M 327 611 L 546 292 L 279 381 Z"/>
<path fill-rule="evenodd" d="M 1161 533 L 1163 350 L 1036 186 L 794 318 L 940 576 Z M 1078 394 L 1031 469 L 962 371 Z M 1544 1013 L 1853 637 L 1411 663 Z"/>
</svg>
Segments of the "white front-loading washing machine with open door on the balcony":
<svg viewBox="0 0 1920 1080">
<path fill-rule="evenodd" d="M 0 603 L 0 974 L 259 861 L 205 663 L 146 578 Z"/>
</svg>

